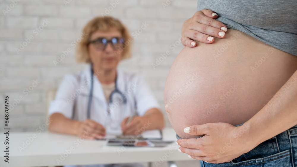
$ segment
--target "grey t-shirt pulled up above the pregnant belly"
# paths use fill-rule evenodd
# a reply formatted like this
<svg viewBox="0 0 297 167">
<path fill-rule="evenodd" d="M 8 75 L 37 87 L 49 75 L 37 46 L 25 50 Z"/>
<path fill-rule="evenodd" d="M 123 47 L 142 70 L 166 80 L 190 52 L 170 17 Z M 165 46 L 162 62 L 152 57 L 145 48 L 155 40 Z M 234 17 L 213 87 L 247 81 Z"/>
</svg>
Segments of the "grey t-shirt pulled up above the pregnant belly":
<svg viewBox="0 0 297 167">
<path fill-rule="evenodd" d="M 297 56 L 296 0 L 198 0 L 197 8 L 216 12 L 227 28 Z"/>
</svg>

